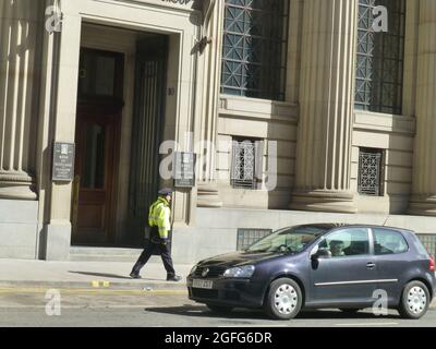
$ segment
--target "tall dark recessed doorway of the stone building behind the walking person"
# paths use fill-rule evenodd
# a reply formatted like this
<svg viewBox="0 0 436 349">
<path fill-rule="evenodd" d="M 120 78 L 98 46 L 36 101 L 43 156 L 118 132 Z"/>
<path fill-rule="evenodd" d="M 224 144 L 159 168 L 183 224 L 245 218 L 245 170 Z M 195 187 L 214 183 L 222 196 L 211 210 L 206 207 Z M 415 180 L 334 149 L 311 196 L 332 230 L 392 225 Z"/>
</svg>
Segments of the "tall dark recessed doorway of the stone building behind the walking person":
<svg viewBox="0 0 436 349">
<path fill-rule="evenodd" d="M 99 44 L 109 36 L 122 52 Z M 160 185 L 168 37 L 85 25 L 82 41 L 72 244 L 140 248 Z"/>
</svg>

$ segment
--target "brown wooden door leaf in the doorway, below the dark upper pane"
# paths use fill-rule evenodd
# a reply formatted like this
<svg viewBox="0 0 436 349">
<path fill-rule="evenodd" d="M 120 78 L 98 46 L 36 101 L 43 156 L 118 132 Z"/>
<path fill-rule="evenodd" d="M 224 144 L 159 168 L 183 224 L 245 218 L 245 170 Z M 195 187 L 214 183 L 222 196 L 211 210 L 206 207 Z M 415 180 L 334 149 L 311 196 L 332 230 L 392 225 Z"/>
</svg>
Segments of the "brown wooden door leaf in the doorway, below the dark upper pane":
<svg viewBox="0 0 436 349">
<path fill-rule="evenodd" d="M 76 124 L 80 181 L 74 242 L 110 242 L 111 197 L 118 115 L 82 107 Z"/>
</svg>

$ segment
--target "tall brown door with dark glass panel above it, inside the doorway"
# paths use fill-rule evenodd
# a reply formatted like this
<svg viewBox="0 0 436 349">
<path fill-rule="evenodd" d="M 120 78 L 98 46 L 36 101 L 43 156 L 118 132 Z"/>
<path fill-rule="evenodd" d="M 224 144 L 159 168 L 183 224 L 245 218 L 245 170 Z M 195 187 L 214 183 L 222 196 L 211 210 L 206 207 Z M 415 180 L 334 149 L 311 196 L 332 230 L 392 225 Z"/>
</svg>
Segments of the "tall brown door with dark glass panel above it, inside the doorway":
<svg viewBox="0 0 436 349">
<path fill-rule="evenodd" d="M 123 64 L 122 53 L 81 49 L 73 243 L 114 243 Z"/>
</svg>

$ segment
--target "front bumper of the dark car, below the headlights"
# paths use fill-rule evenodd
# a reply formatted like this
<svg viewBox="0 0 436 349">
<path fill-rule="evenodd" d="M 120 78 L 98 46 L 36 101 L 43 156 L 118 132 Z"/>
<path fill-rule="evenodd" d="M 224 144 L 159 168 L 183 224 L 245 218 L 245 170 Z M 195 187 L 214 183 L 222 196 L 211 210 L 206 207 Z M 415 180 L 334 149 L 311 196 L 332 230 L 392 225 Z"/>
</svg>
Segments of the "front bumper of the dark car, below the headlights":
<svg viewBox="0 0 436 349">
<path fill-rule="evenodd" d="M 251 279 L 239 278 L 206 278 L 213 282 L 211 289 L 194 288 L 189 276 L 186 286 L 189 298 L 198 303 L 215 305 L 259 308 L 264 301 L 264 285 Z"/>
</svg>

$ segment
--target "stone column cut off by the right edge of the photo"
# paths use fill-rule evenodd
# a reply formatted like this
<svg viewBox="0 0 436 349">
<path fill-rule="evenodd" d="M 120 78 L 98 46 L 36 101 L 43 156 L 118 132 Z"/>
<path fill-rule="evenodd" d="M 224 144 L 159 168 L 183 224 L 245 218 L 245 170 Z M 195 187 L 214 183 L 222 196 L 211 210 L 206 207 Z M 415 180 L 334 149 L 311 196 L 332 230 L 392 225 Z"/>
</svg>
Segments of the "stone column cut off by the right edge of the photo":
<svg viewBox="0 0 436 349">
<path fill-rule="evenodd" d="M 436 216 L 436 1 L 420 1 L 416 136 L 409 213 Z"/>
</svg>

